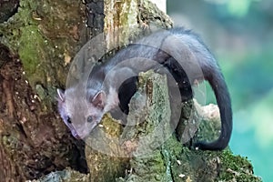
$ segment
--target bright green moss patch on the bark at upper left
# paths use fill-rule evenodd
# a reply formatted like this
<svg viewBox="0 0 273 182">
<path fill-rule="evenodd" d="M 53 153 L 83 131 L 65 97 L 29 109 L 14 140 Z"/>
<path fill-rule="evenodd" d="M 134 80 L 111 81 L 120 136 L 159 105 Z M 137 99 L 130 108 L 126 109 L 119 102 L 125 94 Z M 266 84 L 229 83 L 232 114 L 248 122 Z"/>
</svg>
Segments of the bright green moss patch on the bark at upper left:
<svg viewBox="0 0 273 182">
<path fill-rule="evenodd" d="M 37 1 L 22 0 L 18 13 L 9 19 L 3 27 L 3 43 L 12 51 L 18 52 L 23 63 L 28 82 L 35 88 L 36 82 L 45 82 L 45 37 L 38 28 L 38 22 L 32 17 Z"/>
</svg>

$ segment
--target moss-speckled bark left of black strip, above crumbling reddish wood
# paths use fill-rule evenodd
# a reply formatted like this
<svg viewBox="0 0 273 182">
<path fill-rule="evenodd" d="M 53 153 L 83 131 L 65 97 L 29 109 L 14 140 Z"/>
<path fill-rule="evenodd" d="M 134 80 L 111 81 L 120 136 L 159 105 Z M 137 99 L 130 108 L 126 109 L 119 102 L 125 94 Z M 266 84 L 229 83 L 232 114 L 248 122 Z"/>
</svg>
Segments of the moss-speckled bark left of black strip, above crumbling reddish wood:
<svg viewBox="0 0 273 182">
<path fill-rule="evenodd" d="M 80 36 L 86 31 L 83 6 L 78 1 L 21 0 L 18 12 L 0 25 L 1 42 L 18 54 L 30 86 L 43 88 L 44 109 L 51 108 L 52 90 L 66 84 L 66 65 L 86 43 Z"/>
</svg>

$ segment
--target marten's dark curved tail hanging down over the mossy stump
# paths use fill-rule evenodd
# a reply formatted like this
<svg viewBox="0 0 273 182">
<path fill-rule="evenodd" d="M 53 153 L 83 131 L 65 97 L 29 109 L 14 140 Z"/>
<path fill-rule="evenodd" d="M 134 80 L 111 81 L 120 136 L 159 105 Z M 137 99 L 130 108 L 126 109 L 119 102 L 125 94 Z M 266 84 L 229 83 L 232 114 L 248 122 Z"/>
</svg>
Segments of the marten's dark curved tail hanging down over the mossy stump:
<svg viewBox="0 0 273 182">
<path fill-rule="evenodd" d="M 227 147 L 232 131 L 231 100 L 224 76 L 218 68 L 213 71 L 210 70 L 210 74 L 206 79 L 212 87 L 217 99 L 221 117 L 221 133 L 216 141 L 211 143 L 198 142 L 195 144 L 195 147 L 202 150 L 222 150 Z"/>
</svg>

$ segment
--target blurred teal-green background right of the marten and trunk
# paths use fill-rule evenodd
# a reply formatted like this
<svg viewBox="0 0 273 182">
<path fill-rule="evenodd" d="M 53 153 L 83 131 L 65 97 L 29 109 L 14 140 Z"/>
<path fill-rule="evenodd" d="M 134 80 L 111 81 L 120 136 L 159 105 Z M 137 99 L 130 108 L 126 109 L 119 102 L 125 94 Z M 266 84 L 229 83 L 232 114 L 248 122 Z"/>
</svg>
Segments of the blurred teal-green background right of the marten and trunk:
<svg viewBox="0 0 273 182">
<path fill-rule="evenodd" d="M 273 1 L 167 0 L 167 14 L 201 35 L 217 57 L 232 97 L 230 147 L 263 181 L 273 181 Z"/>
</svg>

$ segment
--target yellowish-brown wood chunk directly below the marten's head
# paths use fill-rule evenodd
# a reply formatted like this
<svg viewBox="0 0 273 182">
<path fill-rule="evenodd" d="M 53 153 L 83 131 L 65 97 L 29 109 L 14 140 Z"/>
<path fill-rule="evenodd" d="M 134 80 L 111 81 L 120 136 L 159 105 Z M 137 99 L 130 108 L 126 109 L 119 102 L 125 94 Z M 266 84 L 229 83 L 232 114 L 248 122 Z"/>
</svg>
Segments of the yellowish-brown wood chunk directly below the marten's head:
<svg viewBox="0 0 273 182">
<path fill-rule="evenodd" d="M 118 142 L 122 126 L 109 114 L 86 138 L 86 162 L 91 181 L 112 182 L 125 176 L 128 157 Z"/>
</svg>

